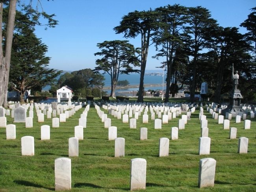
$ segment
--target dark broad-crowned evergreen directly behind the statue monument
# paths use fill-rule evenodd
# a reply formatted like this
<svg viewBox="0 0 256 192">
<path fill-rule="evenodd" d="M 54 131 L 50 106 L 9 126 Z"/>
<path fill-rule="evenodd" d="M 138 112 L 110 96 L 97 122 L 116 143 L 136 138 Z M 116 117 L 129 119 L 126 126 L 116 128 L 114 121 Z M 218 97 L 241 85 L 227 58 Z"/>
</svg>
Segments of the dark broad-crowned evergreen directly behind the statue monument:
<svg viewBox="0 0 256 192">
<path fill-rule="evenodd" d="M 216 65 L 215 74 L 215 102 L 219 102 L 224 83 L 230 84 L 230 67 L 235 64 L 236 69 L 242 74 L 247 70 L 250 62 L 250 44 L 245 35 L 238 32 L 238 28 L 222 28 L 209 31 L 211 36 L 206 37 L 207 47 L 212 52 L 212 61 Z M 224 85 L 226 87 L 226 85 Z"/>
</svg>

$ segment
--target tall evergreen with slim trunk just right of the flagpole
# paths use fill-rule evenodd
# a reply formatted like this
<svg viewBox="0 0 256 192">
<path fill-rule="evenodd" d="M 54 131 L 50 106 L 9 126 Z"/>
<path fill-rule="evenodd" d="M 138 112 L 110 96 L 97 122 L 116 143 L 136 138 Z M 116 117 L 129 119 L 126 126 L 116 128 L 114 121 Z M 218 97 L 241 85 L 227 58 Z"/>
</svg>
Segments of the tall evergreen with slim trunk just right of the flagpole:
<svg viewBox="0 0 256 192">
<path fill-rule="evenodd" d="M 173 67 L 174 57 L 176 50 L 180 50 L 180 47 L 183 46 L 182 33 L 184 32 L 184 26 L 187 22 L 187 8 L 175 4 L 173 6 L 168 5 L 165 7 L 156 8 L 155 11 L 159 13 L 159 18 L 158 30 L 156 30 L 154 33 L 153 42 L 156 44 L 157 50 L 158 47 L 161 46 L 161 49 L 158 50 L 160 53 L 158 53 L 155 57 L 166 58 L 166 61 L 163 62 L 162 67 L 167 68 L 164 102 L 168 102 L 171 79 L 172 76 L 174 77 L 174 75 L 177 74 Z M 174 84 L 172 87 L 175 87 Z"/>
</svg>

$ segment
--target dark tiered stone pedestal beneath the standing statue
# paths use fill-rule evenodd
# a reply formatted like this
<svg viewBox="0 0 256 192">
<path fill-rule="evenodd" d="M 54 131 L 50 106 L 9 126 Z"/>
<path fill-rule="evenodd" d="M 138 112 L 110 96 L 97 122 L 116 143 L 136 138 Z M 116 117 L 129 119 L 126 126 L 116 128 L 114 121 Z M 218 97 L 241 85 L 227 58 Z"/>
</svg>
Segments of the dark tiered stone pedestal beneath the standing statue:
<svg viewBox="0 0 256 192">
<path fill-rule="evenodd" d="M 232 116 L 236 116 L 239 113 L 245 113 L 245 110 L 242 109 L 241 100 L 243 96 L 239 89 L 233 89 L 229 94 L 230 103 L 226 109 L 223 109 L 221 113 L 223 115 L 226 112 L 232 114 Z"/>
</svg>

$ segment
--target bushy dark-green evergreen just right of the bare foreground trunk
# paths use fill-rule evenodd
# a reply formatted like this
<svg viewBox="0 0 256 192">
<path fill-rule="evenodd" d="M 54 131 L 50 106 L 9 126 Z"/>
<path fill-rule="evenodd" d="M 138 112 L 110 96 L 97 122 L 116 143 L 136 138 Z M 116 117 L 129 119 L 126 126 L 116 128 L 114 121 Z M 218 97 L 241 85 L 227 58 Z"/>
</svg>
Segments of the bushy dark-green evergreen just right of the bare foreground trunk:
<svg viewBox="0 0 256 192">
<path fill-rule="evenodd" d="M 48 69 L 50 57 L 46 57 L 47 46 L 32 32 L 15 34 L 12 44 L 9 89 L 20 93 L 24 102 L 26 90 L 50 84 L 61 71 Z"/>
</svg>

